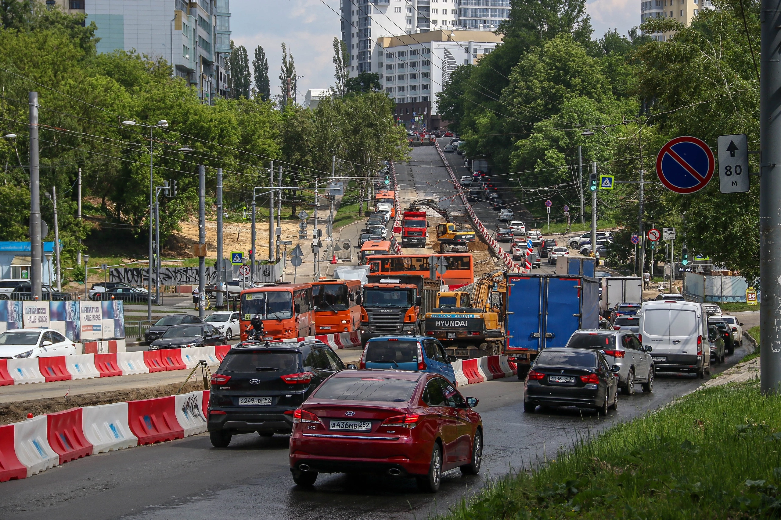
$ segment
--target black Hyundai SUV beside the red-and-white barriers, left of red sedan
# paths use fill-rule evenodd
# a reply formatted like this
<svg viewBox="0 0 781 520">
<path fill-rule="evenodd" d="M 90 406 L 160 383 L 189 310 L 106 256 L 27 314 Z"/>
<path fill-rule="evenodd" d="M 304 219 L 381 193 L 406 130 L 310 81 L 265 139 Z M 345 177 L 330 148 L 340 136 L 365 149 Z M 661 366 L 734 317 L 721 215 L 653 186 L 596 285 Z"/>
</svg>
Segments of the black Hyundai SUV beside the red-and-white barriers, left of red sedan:
<svg viewBox="0 0 781 520">
<path fill-rule="evenodd" d="M 212 445 L 226 447 L 237 433 L 291 433 L 293 411 L 339 370 L 344 370 L 339 356 L 316 339 L 231 348 L 212 374 L 207 410 Z"/>
</svg>

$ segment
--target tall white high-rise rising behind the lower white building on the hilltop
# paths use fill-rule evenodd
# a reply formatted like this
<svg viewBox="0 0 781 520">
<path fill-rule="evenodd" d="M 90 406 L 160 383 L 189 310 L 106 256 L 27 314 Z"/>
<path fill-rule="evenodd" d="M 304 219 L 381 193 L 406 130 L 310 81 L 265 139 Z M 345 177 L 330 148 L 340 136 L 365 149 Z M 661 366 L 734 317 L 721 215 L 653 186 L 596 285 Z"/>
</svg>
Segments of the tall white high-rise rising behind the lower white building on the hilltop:
<svg viewBox="0 0 781 520">
<path fill-rule="evenodd" d="M 510 0 L 341 0 L 342 40 L 350 70 L 381 72 L 376 63 L 380 37 L 432 30 L 494 30 L 510 16 Z"/>
</svg>

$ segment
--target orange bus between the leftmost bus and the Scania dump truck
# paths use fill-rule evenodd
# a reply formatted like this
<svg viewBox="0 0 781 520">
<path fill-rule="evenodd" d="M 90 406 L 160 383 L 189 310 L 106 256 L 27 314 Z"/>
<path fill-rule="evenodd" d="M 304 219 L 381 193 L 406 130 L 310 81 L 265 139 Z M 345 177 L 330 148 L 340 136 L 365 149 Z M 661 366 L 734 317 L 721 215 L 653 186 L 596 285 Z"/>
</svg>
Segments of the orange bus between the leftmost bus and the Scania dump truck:
<svg viewBox="0 0 781 520">
<path fill-rule="evenodd" d="M 337 334 L 360 330 L 360 280 L 323 280 L 312 282 L 315 334 Z"/>
</svg>

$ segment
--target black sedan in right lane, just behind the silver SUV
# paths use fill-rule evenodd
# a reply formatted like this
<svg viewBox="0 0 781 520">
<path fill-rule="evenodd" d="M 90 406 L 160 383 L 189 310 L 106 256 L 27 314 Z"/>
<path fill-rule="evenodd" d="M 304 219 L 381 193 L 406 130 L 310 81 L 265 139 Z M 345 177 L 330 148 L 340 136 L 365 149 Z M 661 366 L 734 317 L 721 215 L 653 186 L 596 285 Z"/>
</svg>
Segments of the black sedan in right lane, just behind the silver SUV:
<svg viewBox="0 0 781 520">
<path fill-rule="evenodd" d="M 578 406 L 608 415 L 619 404 L 619 366 L 609 366 L 602 352 L 586 348 L 546 348 L 526 374 L 523 411 L 537 405 Z"/>
</svg>

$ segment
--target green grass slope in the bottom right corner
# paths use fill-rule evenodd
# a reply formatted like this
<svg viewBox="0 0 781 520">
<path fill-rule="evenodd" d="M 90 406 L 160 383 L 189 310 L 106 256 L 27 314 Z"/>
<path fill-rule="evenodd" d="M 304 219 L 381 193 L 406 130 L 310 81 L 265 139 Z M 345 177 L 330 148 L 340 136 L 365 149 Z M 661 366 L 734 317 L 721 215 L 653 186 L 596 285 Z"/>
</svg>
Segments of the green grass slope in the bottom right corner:
<svg viewBox="0 0 781 520">
<path fill-rule="evenodd" d="M 712 387 L 621 423 L 447 517 L 765 518 L 781 512 L 781 396 Z"/>
</svg>

